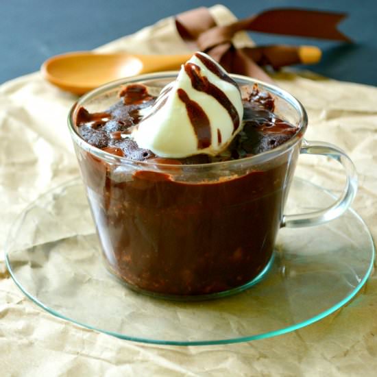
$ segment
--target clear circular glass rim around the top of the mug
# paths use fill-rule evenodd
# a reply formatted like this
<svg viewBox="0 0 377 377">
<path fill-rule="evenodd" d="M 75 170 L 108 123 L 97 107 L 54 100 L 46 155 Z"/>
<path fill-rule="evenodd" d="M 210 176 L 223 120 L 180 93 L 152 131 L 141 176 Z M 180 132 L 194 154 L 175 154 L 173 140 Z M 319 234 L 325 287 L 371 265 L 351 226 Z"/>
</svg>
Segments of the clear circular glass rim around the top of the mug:
<svg viewBox="0 0 377 377">
<path fill-rule="evenodd" d="M 99 149 L 97 147 L 94 147 L 93 145 L 90 145 L 88 142 L 84 141 L 84 139 L 78 134 L 77 127 L 75 127 L 73 122 L 73 115 L 75 114 L 75 111 L 80 108 L 84 104 L 84 102 L 93 99 L 94 97 L 97 97 L 97 95 L 101 95 L 102 93 L 112 90 L 116 88 L 117 86 L 121 85 L 128 85 L 128 84 L 134 84 L 138 82 L 145 82 L 148 80 L 162 80 L 167 79 L 169 77 L 174 80 L 174 78 L 178 75 L 178 71 L 165 71 L 165 72 L 158 72 L 158 73 L 146 73 L 145 75 L 136 75 L 132 77 L 126 77 L 123 79 L 115 80 L 112 82 L 108 82 L 104 85 L 99 86 L 98 88 L 95 88 L 93 90 L 90 90 L 90 92 L 82 95 L 76 102 L 71 106 L 71 109 L 69 110 L 68 114 L 68 127 L 69 132 L 71 134 L 71 137 L 73 138 L 73 142 L 78 145 L 80 148 L 88 151 L 90 154 L 93 154 L 95 157 L 100 158 L 101 160 L 105 160 L 106 162 L 117 164 L 117 165 L 132 165 L 132 166 L 138 166 L 138 167 L 144 167 L 144 168 L 151 168 L 151 167 L 160 167 L 160 168 L 176 168 L 177 165 L 173 164 L 162 164 L 160 162 L 154 162 L 151 164 L 150 162 L 146 161 L 136 161 L 132 160 L 131 158 L 116 156 L 114 154 L 110 154 L 107 151 L 104 151 L 102 149 Z M 276 85 L 263 82 L 262 80 L 257 80 L 252 77 L 247 77 L 244 75 L 236 75 L 236 74 L 230 74 L 230 77 L 232 77 L 234 80 L 237 79 L 238 81 L 247 81 L 250 83 L 250 85 L 258 84 L 262 89 L 267 89 L 269 93 L 276 95 L 277 97 L 280 97 L 281 99 L 284 99 L 284 101 L 287 101 L 293 108 L 297 111 L 300 121 L 298 124 L 298 129 L 295 135 L 293 135 L 289 141 L 286 141 L 282 145 L 279 145 L 276 148 L 273 148 L 269 151 L 262 152 L 260 154 L 256 154 L 254 156 L 245 157 L 245 158 L 239 158 L 237 160 L 228 160 L 228 161 L 219 161 L 219 162 L 207 162 L 202 164 L 182 164 L 181 167 L 190 167 L 191 169 L 195 168 L 202 168 L 202 167 L 232 167 L 234 165 L 239 164 L 245 164 L 248 165 L 258 165 L 263 162 L 266 162 L 268 160 L 272 160 L 273 158 L 276 158 L 277 156 L 280 156 L 285 151 L 289 150 L 293 145 L 295 145 L 302 137 L 304 136 L 304 133 L 306 132 L 306 128 L 308 125 L 308 116 L 306 114 L 306 110 L 304 106 L 302 106 L 301 102 L 295 98 L 291 93 L 287 92 L 287 90 L 284 90 L 282 88 L 279 88 Z"/>
</svg>

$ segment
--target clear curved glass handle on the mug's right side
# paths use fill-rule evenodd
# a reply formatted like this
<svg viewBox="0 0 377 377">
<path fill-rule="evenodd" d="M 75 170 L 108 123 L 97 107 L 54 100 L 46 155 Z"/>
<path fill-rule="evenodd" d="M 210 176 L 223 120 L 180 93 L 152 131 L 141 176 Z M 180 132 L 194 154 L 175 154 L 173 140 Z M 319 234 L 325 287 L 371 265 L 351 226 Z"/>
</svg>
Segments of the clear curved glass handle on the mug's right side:
<svg viewBox="0 0 377 377">
<path fill-rule="evenodd" d="M 357 191 L 357 175 L 352 160 L 338 147 L 321 141 L 303 141 L 301 154 L 315 154 L 330 157 L 343 165 L 347 181 L 343 193 L 328 208 L 298 215 L 283 215 L 281 227 L 301 228 L 327 223 L 341 216 L 350 206 Z"/>
</svg>

